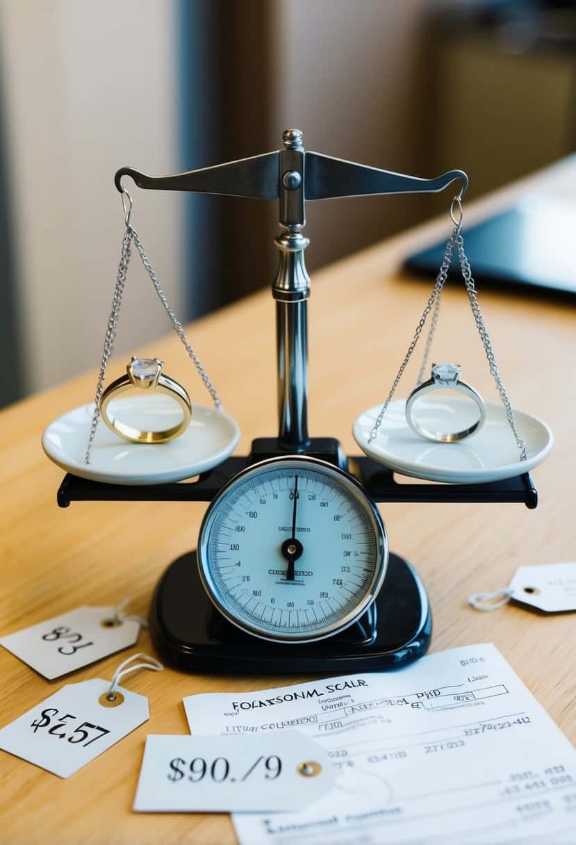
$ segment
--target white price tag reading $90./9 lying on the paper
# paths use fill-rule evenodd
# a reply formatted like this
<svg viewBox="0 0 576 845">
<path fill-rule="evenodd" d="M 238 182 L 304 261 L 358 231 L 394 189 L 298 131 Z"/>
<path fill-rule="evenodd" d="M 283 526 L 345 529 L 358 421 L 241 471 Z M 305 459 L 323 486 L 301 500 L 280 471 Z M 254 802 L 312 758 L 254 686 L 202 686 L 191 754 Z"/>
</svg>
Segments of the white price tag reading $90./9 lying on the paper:
<svg viewBox="0 0 576 845">
<path fill-rule="evenodd" d="M 327 793 L 322 746 L 285 730 L 249 736 L 146 738 L 133 809 L 140 812 L 300 810 Z"/>
</svg>

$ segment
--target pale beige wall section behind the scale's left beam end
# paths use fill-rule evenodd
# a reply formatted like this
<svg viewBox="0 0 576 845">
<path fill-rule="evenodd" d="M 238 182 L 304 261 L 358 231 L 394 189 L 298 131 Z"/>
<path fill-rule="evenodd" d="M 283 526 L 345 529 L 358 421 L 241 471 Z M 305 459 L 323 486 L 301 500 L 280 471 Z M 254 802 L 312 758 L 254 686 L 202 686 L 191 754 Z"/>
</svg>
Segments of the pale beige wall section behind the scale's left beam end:
<svg viewBox="0 0 576 845">
<path fill-rule="evenodd" d="M 122 242 L 117 167 L 138 161 L 162 172 L 180 163 L 177 7 L 8 0 L 0 32 L 14 255 L 3 287 L 15 290 L 28 393 L 99 363 Z M 183 210 L 182 196 L 138 198 L 136 220 L 176 308 L 186 298 Z M 119 345 L 137 349 L 160 332 L 161 314 L 147 307 L 144 279 L 129 282 Z"/>
</svg>

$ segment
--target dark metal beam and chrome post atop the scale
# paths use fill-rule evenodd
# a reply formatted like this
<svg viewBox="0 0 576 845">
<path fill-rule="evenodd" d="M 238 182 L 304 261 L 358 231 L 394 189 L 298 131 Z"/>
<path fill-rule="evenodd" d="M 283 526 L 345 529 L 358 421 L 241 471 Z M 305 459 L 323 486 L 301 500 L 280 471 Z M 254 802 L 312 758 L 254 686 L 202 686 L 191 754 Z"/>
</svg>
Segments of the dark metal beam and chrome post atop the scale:
<svg viewBox="0 0 576 845">
<path fill-rule="evenodd" d="M 457 180 L 461 199 L 468 187 L 468 177 L 464 171 L 451 170 L 434 179 L 422 179 L 307 152 L 300 129 L 286 129 L 283 140 L 283 150 L 171 176 L 147 176 L 133 167 L 121 167 L 114 182 L 120 192 L 126 189 L 122 178 L 131 177 L 139 188 L 278 200 L 283 232 L 274 242 L 280 260 L 272 282 L 276 301 L 278 430 L 285 446 L 302 452 L 309 444 L 307 297 L 310 279 L 304 263 L 304 250 L 309 242 L 301 231 L 306 225 L 307 201 L 437 193 Z"/>
</svg>

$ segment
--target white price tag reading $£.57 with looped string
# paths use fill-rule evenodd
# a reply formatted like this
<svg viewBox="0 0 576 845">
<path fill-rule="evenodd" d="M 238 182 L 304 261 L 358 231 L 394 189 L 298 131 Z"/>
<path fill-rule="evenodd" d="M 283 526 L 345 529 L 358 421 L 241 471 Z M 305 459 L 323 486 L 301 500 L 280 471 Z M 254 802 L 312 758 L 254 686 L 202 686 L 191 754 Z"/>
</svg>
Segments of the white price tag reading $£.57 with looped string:
<svg viewBox="0 0 576 845">
<path fill-rule="evenodd" d="M 144 695 L 95 678 L 67 684 L 0 730 L 0 749 L 70 777 L 149 718 Z"/>
</svg>

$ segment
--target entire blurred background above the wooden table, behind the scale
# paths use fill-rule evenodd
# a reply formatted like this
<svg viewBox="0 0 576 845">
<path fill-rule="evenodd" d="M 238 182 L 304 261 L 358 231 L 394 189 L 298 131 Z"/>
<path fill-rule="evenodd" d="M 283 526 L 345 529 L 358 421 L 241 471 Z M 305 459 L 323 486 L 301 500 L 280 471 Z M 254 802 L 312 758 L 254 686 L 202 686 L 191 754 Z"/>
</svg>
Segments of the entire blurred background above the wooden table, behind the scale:
<svg viewBox="0 0 576 845">
<path fill-rule="evenodd" d="M 0 0 L 0 404 L 100 362 L 123 217 L 112 177 L 308 149 L 484 193 L 576 147 L 573 3 Z M 181 319 L 269 284 L 274 203 L 139 191 Z M 307 207 L 313 270 L 446 199 Z M 169 330 L 133 256 L 117 351 Z"/>
</svg>

